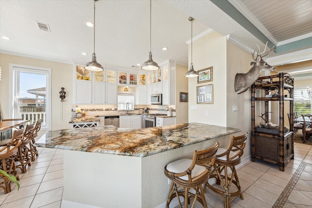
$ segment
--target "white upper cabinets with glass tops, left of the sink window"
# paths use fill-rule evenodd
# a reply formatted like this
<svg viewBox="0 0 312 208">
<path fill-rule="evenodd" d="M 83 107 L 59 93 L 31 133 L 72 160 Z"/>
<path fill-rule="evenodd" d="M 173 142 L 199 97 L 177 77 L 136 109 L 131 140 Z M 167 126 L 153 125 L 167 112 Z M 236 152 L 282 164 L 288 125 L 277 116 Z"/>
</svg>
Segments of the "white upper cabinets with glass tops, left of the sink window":
<svg viewBox="0 0 312 208">
<path fill-rule="evenodd" d="M 116 70 L 91 72 L 75 67 L 74 104 L 117 104 Z"/>
</svg>

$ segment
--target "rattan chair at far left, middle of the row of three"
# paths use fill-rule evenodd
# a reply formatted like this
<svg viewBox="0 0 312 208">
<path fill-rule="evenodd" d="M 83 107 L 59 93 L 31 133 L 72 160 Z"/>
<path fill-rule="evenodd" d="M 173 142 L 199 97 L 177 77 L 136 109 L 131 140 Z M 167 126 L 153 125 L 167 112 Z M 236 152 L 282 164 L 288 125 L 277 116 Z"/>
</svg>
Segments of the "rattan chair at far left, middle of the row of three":
<svg viewBox="0 0 312 208">
<path fill-rule="evenodd" d="M 27 124 L 24 131 L 24 139 L 18 148 L 18 152 L 14 155 L 16 168 L 21 170 L 21 173 L 27 172 L 27 165 L 31 166 L 31 155 L 29 154 L 31 137 L 33 136 L 35 123 Z"/>
</svg>

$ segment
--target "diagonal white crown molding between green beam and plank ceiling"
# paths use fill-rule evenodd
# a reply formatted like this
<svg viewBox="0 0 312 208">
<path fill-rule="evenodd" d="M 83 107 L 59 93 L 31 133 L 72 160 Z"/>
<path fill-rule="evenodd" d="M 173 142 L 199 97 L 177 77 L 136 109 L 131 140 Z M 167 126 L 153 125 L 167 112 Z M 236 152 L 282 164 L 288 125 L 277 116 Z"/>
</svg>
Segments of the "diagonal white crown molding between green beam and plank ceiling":
<svg viewBox="0 0 312 208">
<path fill-rule="evenodd" d="M 263 24 L 254 17 L 254 15 L 246 9 L 246 7 L 238 0 L 228 0 L 246 19 L 248 19 L 264 36 L 266 36 L 274 45 L 278 41 L 273 35 L 263 26 Z M 247 30 L 247 28 L 246 28 Z"/>
</svg>

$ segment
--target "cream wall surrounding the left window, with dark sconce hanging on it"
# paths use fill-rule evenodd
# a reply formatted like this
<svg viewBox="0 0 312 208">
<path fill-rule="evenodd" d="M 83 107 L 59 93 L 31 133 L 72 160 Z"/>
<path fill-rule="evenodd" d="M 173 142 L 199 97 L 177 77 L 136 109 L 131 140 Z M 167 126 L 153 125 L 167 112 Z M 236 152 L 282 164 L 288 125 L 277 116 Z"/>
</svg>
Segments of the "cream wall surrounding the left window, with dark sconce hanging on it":
<svg viewBox="0 0 312 208">
<path fill-rule="evenodd" d="M 35 58 L 0 54 L 0 66 L 2 78 L 0 81 L 0 105 L 3 118 L 9 118 L 9 63 L 26 66 L 51 68 L 52 70 L 52 130 L 70 129 L 68 123 L 71 118 L 73 103 L 73 65 L 53 61 L 40 60 Z M 63 102 L 63 119 L 61 120 L 61 102 L 59 98 L 60 88 L 64 87 L 66 98 Z"/>
</svg>

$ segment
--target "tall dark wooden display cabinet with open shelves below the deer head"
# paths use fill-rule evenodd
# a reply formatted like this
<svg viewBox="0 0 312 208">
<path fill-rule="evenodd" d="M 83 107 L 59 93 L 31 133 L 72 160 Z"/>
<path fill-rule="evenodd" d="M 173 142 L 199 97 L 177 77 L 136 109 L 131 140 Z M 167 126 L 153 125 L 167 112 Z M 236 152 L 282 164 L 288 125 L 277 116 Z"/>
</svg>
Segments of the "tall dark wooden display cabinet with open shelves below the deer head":
<svg viewBox="0 0 312 208">
<path fill-rule="evenodd" d="M 265 95 L 272 97 L 255 97 L 256 90 L 264 91 Z M 284 96 L 288 91 L 289 96 Z M 258 95 L 258 94 L 257 94 Z M 284 128 L 284 102 L 289 102 L 290 130 Z M 279 127 L 278 130 L 270 129 L 260 131 L 255 124 L 255 102 L 265 103 L 265 119 L 269 120 L 269 102 L 278 102 Z M 293 159 L 293 78 L 287 73 L 279 73 L 273 76 L 259 77 L 252 85 L 252 161 L 264 160 L 278 164 L 279 170 L 284 171 L 285 164 Z"/>
</svg>

